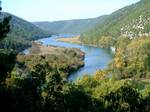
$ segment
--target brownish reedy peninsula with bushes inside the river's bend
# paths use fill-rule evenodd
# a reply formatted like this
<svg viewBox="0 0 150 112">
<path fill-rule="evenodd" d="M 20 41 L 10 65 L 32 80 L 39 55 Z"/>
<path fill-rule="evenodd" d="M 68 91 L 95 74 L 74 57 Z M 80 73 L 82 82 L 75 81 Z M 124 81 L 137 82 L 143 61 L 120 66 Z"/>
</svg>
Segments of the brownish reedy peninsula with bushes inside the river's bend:
<svg viewBox="0 0 150 112">
<path fill-rule="evenodd" d="M 76 48 L 65 48 L 50 45 L 43 45 L 39 41 L 32 42 L 29 54 L 18 55 L 21 63 L 32 69 L 38 63 L 48 63 L 48 66 L 57 69 L 66 80 L 71 72 L 84 66 L 85 53 Z"/>
</svg>

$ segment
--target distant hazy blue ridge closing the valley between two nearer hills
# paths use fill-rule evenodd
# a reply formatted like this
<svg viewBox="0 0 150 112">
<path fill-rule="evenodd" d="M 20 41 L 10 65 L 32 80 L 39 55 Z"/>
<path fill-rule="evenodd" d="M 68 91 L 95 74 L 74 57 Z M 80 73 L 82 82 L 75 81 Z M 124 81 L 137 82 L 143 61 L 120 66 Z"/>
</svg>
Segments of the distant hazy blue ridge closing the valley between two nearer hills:
<svg viewBox="0 0 150 112">
<path fill-rule="evenodd" d="M 33 22 L 39 28 L 54 32 L 54 33 L 81 33 L 92 26 L 95 26 L 97 22 L 105 19 L 107 16 L 101 16 L 91 19 L 77 19 L 77 20 L 65 20 L 54 22 Z"/>
</svg>

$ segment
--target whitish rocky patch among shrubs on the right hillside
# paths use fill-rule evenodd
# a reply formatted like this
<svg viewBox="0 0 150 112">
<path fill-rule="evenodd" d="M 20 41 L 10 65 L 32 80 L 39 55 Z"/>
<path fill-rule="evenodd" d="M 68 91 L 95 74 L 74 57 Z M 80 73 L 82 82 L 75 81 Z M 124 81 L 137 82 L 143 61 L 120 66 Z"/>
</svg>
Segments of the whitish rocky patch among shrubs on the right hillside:
<svg viewBox="0 0 150 112">
<path fill-rule="evenodd" d="M 130 39 L 150 36 L 150 10 L 143 12 L 138 18 L 132 20 L 129 24 L 124 24 L 121 27 L 121 36 L 129 37 Z"/>
</svg>

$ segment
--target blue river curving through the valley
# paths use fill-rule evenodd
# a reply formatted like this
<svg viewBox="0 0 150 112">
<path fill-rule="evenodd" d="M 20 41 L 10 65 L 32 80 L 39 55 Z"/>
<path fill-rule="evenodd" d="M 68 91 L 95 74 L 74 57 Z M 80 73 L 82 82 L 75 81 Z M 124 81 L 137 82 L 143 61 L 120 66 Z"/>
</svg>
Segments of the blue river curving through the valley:
<svg viewBox="0 0 150 112">
<path fill-rule="evenodd" d="M 69 81 L 81 78 L 83 75 L 93 75 L 96 72 L 96 70 L 107 68 L 107 65 L 112 60 L 112 55 L 107 50 L 99 47 L 72 44 L 72 43 L 60 42 L 56 40 L 57 38 L 61 38 L 61 37 L 69 38 L 72 36 L 74 35 L 59 34 L 59 35 L 53 35 L 52 37 L 39 40 L 44 45 L 54 45 L 54 46 L 67 47 L 67 48 L 78 48 L 83 52 L 85 52 L 84 67 L 80 68 L 78 71 L 71 73 L 68 78 Z"/>
</svg>

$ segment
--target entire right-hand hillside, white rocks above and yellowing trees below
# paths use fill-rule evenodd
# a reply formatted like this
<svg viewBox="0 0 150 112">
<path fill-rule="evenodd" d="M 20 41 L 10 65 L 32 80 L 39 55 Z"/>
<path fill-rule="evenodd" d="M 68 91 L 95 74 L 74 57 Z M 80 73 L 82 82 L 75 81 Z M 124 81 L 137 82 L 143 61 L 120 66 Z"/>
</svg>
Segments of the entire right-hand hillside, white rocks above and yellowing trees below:
<svg viewBox="0 0 150 112">
<path fill-rule="evenodd" d="M 119 78 L 150 78 L 150 1 L 141 0 L 108 16 L 81 41 L 100 47 L 115 47 L 108 74 Z"/>
</svg>

